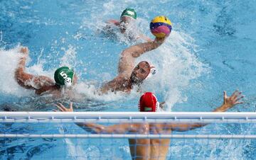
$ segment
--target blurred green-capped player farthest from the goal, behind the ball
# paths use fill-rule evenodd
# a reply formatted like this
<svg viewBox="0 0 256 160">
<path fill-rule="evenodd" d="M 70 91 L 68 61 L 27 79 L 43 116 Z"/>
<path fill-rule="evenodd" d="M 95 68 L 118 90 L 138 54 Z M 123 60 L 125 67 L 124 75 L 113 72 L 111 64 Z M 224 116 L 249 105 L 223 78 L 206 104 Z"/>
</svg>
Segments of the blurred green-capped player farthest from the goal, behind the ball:
<svg viewBox="0 0 256 160">
<path fill-rule="evenodd" d="M 133 8 L 126 8 L 122 12 L 120 16 L 120 20 L 109 20 L 107 21 L 107 26 L 104 28 L 107 33 L 112 33 L 114 30 L 112 30 L 112 26 L 117 26 L 119 28 L 120 33 L 127 35 L 127 37 L 130 40 L 137 40 L 137 39 L 142 39 L 145 40 L 146 42 L 152 42 L 150 38 L 146 37 L 146 35 L 143 34 L 134 34 L 134 30 L 137 30 L 137 28 L 132 28 L 135 24 L 135 21 L 137 19 L 137 13 L 134 11 Z"/>
</svg>

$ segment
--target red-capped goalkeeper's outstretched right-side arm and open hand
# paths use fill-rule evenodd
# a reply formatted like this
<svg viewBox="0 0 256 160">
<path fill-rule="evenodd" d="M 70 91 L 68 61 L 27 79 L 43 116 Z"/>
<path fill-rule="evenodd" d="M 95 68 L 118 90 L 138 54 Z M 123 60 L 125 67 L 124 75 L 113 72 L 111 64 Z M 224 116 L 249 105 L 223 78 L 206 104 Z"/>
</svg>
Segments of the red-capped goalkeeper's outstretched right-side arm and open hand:
<svg viewBox="0 0 256 160">
<path fill-rule="evenodd" d="M 226 110 L 233 108 L 233 106 L 237 104 L 241 104 L 240 100 L 243 98 L 242 93 L 240 91 L 235 91 L 232 96 L 228 97 L 227 93 L 224 91 L 223 96 L 223 105 L 220 105 L 220 107 L 213 110 L 213 112 L 225 112 Z M 191 124 L 166 124 L 167 128 L 171 128 L 171 130 L 174 131 L 187 131 L 187 130 L 194 130 L 198 127 L 203 127 L 205 125 L 208 125 L 208 123 L 191 123 Z"/>
</svg>

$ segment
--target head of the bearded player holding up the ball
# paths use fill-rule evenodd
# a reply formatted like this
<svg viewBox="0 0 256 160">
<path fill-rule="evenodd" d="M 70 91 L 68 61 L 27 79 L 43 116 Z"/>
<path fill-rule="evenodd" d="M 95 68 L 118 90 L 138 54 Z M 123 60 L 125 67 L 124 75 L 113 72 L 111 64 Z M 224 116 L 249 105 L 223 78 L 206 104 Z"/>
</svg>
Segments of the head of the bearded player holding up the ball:
<svg viewBox="0 0 256 160">
<path fill-rule="evenodd" d="M 151 66 L 149 62 L 142 61 L 132 71 L 130 79 L 132 84 L 142 84 L 144 79 L 148 79 L 152 74 L 156 73 L 154 66 Z"/>
</svg>

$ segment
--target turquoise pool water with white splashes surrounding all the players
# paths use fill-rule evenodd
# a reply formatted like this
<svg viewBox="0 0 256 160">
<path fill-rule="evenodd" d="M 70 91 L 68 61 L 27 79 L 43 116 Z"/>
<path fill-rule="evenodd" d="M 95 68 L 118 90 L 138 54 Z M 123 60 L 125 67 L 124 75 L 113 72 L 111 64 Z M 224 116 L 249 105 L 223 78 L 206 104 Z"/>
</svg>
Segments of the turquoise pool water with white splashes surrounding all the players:
<svg viewBox="0 0 256 160">
<path fill-rule="evenodd" d="M 255 111 L 256 1 L 216 0 L 0 1 L 0 67 L 4 75 L 0 77 L 1 108 L 11 106 L 16 110 L 36 111 L 53 109 L 55 100 L 38 98 L 33 91 L 24 90 L 14 81 L 17 46 L 24 45 L 30 49 L 28 72 L 53 78 L 55 69 L 61 65 L 75 68 L 79 76 L 75 89 L 84 98 L 80 101 L 57 101 L 75 101 L 76 110 L 136 111 L 139 93 L 135 91 L 129 96 L 122 93 L 105 96 L 93 94 L 95 88 L 117 75 L 120 52 L 130 45 L 142 42 L 129 42 L 118 33 L 109 36 L 101 32 L 105 21 L 110 18 L 118 19 L 122 10 L 127 7 L 137 11 L 137 26 L 140 32 L 150 38 L 154 37 L 149 32 L 149 21 L 154 16 L 168 16 L 173 23 L 173 31 L 164 45 L 137 60 L 148 60 L 157 68 L 156 76 L 146 81 L 142 88 L 144 91 L 154 91 L 160 101 L 166 101 L 166 110 L 210 111 L 222 103 L 224 90 L 230 94 L 238 88 L 246 96 L 245 103 L 232 111 Z M 215 127 L 209 129 L 214 130 Z M 247 129 L 246 126 L 240 129 L 227 127 L 221 132 L 242 133 Z M 42 130 L 38 129 L 39 131 Z M 54 141 L 50 142 L 51 147 L 47 147 L 43 145 L 46 144 L 45 141 L 39 142 L 45 150 L 39 149 L 41 154 L 32 154 L 27 156 L 28 159 L 50 155 L 43 153 L 60 144 L 67 144 Z M 83 143 L 86 142 L 87 140 Z M 14 148 L 9 149 L 11 151 L 8 153 L 16 155 L 11 159 L 19 159 L 18 157 L 26 157 L 24 155 L 28 155 L 29 149 L 37 147 L 38 142 L 16 148 L 14 144 L 16 141 L 4 143 L 5 147 L 1 150 L 3 159 L 8 157 L 6 150 L 11 148 L 9 145 Z M 229 147 L 237 145 L 236 142 L 222 144 Z M 252 148 L 255 146 L 252 142 L 245 144 Z M 22 153 L 15 152 L 15 149 L 20 148 Z M 196 149 L 199 148 L 200 145 Z M 253 152 L 251 148 L 250 152 L 246 149 L 247 147 L 241 146 L 235 151 L 241 153 L 243 159 L 250 159 Z M 183 152 L 179 148 L 172 152 L 174 157 L 171 158 L 174 159 Z M 192 149 L 191 152 L 195 151 Z M 213 152 L 209 157 L 218 159 L 221 156 L 217 153 L 221 152 Z M 195 159 L 205 154 L 209 155 L 207 149 L 195 156 Z M 190 157 L 190 154 L 185 154 L 184 157 Z"/>
</svg>

